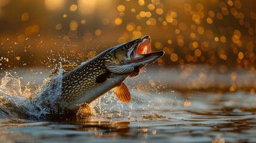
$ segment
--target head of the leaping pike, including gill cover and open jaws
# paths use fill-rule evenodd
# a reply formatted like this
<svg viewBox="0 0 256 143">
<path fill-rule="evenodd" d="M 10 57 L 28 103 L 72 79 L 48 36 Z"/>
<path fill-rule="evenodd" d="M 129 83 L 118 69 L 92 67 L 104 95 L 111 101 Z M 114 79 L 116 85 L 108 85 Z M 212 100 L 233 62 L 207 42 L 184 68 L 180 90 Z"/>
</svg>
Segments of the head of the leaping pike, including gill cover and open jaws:
<svg viewBox="0 0 256 143">
<path fill-rule="evenodd" d="M 105 66 L 113 73 L 132 73 L 136 67 L 144 67 L 163 55 L 164 51 L 151 52 L 150 36 L 144 36 L 113 47 L 105 56 Z"/>
</svg>

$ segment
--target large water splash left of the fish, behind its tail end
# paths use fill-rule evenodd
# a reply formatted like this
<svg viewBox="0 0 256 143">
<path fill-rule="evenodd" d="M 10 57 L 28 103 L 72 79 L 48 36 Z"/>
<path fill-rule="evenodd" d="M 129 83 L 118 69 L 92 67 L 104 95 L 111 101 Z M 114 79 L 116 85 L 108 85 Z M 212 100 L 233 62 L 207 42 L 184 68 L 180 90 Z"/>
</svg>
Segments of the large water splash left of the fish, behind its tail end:
<svg viewBox="0 0 256 143">
<path fill-rule="evenodd" d="M 21 84 L 21 79 L 5 73 L 0 85 L 0 117 L 41 117 L 46 114 L 61 113 L 66 104 L 58 102 L 61 95 L 62 71 L 57 76 L 47 78 L 44 84 L 30 94 L 30 89 Z M 57 104 L 57 102 L 59 104 Z"/>
</svg>

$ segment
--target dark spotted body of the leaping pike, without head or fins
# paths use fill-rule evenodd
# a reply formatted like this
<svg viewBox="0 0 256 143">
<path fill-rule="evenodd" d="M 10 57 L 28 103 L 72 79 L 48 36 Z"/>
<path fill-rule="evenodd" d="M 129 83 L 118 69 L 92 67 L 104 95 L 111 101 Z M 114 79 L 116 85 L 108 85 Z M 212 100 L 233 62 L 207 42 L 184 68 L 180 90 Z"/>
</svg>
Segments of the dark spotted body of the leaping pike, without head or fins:
<svg viewBox="0 0 256 143">
<path fill-rule="evenodd" d="M 104 66 L 104 57 L 109 51 L 111 49 L 104 51 L 63 76 L 61 97 L 69 104 L 67 108 L 76 110 L 83 101 L 90 104 L 98 98 L 97 95 L 103 95 L 110 91 L 129 76 L 129 74 L 117 74 L 106 83 L 95 82 L 98 76 L 108 71 Z"/>
</svg>

